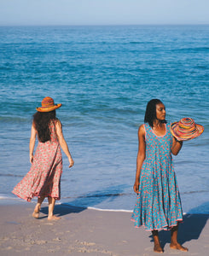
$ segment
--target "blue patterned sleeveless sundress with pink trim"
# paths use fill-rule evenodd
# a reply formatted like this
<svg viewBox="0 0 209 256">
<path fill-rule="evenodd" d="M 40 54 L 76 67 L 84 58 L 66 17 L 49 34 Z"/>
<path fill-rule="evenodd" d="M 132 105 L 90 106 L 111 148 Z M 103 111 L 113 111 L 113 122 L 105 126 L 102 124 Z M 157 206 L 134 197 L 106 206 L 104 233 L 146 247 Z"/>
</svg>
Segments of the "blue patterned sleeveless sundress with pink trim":
<svg viewBox="0 0 209 256">
<path fill-rule="evenodd" d="M 145 124 L 146 158 L 140 174 L 139 194 L 131 216 L 136 227 L 170 230 L 183 220 L 182 205 L 173 169 L 170 125 L 164 136 L 157 136 Z"/>
</svg>

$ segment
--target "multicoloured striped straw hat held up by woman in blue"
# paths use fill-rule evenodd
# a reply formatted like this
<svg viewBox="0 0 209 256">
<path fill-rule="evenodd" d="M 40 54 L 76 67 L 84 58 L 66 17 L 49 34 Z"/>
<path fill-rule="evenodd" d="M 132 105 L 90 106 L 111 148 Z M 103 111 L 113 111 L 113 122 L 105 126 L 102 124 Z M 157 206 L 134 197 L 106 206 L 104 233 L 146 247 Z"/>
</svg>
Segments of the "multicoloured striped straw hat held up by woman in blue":
<svg viewBox="0 0 209 256">
<path fill-rule="evenodd" d="M 171 124 L 171 134 L 180 141 L 188 141 L 198 137 L 203 131 L 204 127 L 195 124 L 194 119 L 191 118 L 183 118 L 179 122 Z"/>
</svg>

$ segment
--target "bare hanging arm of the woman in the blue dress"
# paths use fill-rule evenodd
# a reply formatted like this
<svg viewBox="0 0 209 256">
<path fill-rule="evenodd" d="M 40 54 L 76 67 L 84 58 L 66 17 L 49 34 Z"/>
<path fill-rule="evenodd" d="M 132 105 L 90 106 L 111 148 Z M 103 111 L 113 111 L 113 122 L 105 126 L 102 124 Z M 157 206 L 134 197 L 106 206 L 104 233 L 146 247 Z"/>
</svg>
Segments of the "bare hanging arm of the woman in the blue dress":
<svg viewBox="0 0 209 256">
<path fill-rule="evenodd" d="M 142 163 L 145 160 L 145 156 L 146 156 L 145 149 L 146 149 L 145 129 L 144 129 L 144 125 L 141 125 L 138 129 L 138 154 L 137 154 L 137 160 L 136 160 L 136 179 L 133 187 L 136 193 L 138 193 Z"/>
</svg>

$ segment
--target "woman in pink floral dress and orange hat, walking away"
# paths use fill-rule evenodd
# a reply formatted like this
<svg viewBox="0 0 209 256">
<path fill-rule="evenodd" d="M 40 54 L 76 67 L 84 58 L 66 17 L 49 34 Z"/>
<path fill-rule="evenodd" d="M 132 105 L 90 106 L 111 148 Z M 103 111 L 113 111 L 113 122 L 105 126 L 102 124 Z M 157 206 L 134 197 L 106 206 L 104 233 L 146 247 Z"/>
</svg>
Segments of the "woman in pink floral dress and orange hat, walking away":
<svg viewBox="0 0 209 256">
<path fill-rule="evenodd" d="M 32 133 L 30 139 L 30 171 L 13 189 L 13 193 L 20 198 L 31 201 L 33 196 L 38 197 L 38 203 L 32 216 L 38 218 L 41 204 L 45 197 L 49 201 L 48 219 L 59 219 L 53 214 L 55 201 L 61 199 L 61 148 L 67 155 L 69 167 L 74 164 L 67 143 L 62 134 L 61 121 L 55 117 L 55 109 L 61 104 L 54 103 L 50 97 L 45 97 L 42 107 L 33 115 Z M 33 156 L 36 137 L 38 147 Z"/>
</svg>

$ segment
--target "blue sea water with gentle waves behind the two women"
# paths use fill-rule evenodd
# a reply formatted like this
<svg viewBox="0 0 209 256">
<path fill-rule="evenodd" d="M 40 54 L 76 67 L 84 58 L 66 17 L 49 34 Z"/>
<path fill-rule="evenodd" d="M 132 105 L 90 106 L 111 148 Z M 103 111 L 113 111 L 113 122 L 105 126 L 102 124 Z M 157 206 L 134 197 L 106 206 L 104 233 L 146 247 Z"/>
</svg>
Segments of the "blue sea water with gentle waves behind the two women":
<svg viewBox="0 0 209 256">
<path fill-rule="evenodd" d="M 0 27 L 0 198 L 29 171 L 32 114 L 44 96 L 75 166 L 61 202 L 132 210 L 137 129 L 160 98 L 169 122 L 192 117 L 204 133 L 174 157 L 183 212 L 209 212 L 209 26 Z M 1 201 L 0 200 L 0 201 Z"/>
</svg>

